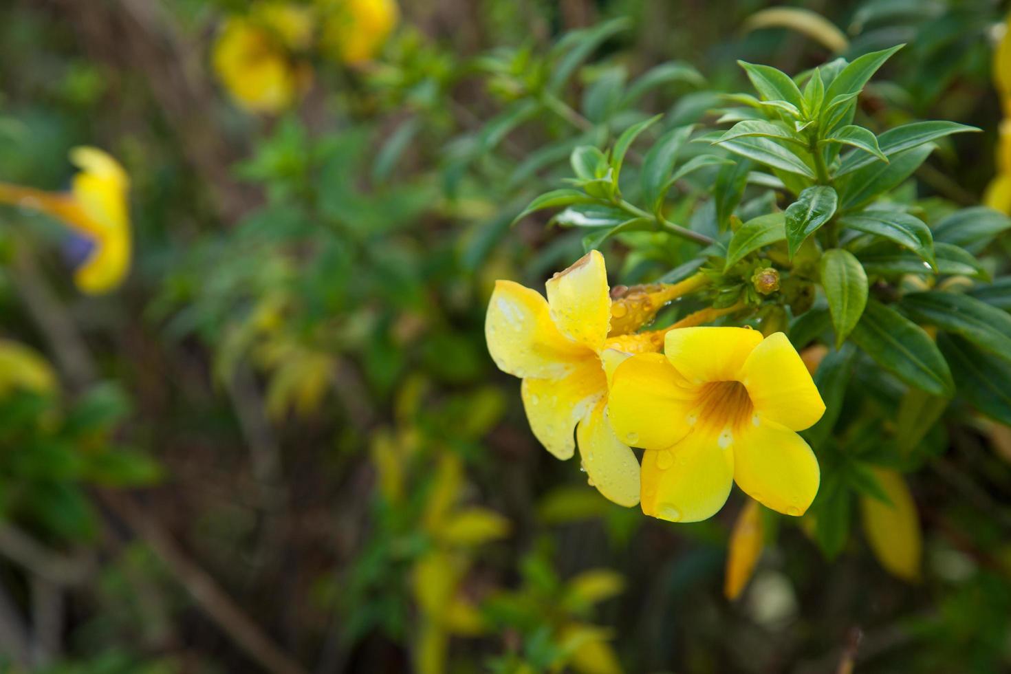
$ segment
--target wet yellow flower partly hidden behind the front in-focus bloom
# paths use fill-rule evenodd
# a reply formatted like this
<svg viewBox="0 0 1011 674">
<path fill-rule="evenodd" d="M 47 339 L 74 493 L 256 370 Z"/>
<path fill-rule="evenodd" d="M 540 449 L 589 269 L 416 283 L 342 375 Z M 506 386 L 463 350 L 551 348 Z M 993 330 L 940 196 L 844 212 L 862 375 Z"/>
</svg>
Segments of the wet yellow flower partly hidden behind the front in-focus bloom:
<svg viewBox="0 0 1011 674">
<path fill-rule="evenodd" d="M 555 457 L 579 455 L 590 481 L 621 505 L 639 502 L 639 462 L 608 419 L 608 373 L 630 353 L 656 351 L 652 334 L 608 339 L 611 296 L 604 257 L 590 252 L 547 282 L 548 299 L 498 281 L 484 334 L 503 372 L 523 379 L 530 427 Z"/>
</svg>

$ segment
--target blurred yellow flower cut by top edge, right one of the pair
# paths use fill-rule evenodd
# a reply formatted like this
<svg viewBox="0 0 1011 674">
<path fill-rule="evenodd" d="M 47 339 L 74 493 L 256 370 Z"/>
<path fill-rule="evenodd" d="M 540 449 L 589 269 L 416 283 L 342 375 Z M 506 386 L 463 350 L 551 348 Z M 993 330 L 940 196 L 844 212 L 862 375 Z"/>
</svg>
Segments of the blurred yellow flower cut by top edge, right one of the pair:
<svg viewBox="0 0 1011 674">
<path fill-rule="evenodd" d="M 396 25 L 400 11 L 393 0 L 324 0 L 319 41 L 347 64 L 370 61 Z"/>
</svg>

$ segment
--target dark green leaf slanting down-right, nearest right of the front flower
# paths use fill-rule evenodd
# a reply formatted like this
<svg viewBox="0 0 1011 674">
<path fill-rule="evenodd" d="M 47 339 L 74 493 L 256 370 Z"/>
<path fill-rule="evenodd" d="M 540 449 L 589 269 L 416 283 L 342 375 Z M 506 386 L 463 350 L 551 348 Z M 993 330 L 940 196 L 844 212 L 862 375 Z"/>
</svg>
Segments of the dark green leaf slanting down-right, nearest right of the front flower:
<svg viewBox="0 0 1011 674">
<path fill-rule="evenodd" d="M 949 396 L 951 372 L 937 345 L 923 328 L 895 309 L 867 300 L 850 340 L 880 366 L 910 386 Z"/>
</svg>

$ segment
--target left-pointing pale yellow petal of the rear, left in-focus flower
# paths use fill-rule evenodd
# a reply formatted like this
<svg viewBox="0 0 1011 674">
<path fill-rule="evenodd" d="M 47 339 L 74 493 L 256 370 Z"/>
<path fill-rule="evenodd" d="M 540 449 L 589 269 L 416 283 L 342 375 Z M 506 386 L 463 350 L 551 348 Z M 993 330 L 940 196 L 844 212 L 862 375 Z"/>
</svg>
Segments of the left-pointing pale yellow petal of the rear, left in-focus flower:
<svg viewBox="0 0 1011 674">
<path fill-rule="evenodd" d="M 575 369 L 576 362 L 596 358 L 558 331 L 539 292 L 513 281 L 495 282 L 484 339 L 498 369 L 516 377 L 557 378 Z"/>
</svg>

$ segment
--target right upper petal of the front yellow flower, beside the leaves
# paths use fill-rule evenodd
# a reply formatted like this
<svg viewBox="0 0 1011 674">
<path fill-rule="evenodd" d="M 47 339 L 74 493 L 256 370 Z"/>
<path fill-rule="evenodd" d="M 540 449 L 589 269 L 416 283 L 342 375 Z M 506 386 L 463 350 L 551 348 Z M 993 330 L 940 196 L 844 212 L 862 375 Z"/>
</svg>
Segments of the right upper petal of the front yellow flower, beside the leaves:
<svg viewBox="0 0 1011 674">
<path fill-rule="evenodd" d="M 825 413 L 818 387 L 783 332 L 762 341 L 741 368 L 755 413 L 791 430 L 804 430 Z"/>
</svg>

